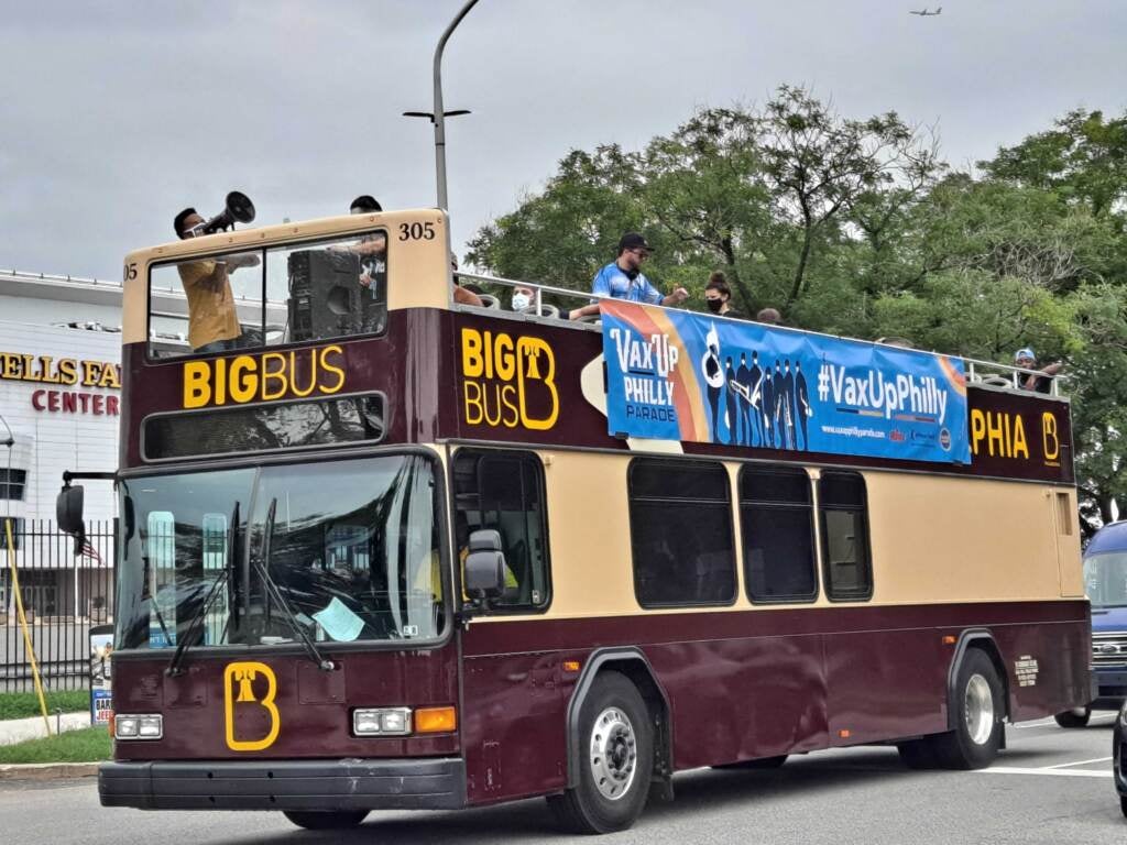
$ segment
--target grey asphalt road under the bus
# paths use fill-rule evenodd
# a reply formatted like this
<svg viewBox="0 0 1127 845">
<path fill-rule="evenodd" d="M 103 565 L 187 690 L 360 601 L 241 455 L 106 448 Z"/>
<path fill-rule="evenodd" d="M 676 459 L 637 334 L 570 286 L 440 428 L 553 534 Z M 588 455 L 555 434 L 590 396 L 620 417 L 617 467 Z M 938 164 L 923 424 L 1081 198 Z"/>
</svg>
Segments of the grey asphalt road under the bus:
<svg viewBox="0 0 1127 845">
<path fill-rule="evenodd" d="M 1009 749 L 982 772 L 913 772 L 895 749 L 880 747 L 797 757 L 774 772 L 686 772 L 674 780 L 676 801 L 651 803 L 632 829 L 598 842 L 1119 845 L 1127 819 L 1111 782 L 1112 719 L 1098 713 L 1083 730 L 1063 730 L 1051 720 L 1010 726 Z M 541 800 L 462 812 L 373 813 L 353 831 L 310 833 L 281 813 L 103 809 L 90 780 L 0 782 L 0 831 L 12 845 L 571 838 L 558 831 Z"/>
</svg>

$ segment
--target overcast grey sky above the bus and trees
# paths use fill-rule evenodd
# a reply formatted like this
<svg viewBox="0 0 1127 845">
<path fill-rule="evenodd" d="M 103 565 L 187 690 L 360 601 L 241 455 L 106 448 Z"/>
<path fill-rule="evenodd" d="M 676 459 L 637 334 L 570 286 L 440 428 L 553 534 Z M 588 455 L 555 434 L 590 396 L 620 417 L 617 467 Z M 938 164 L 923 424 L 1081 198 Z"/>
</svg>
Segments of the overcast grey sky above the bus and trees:
<svg viewBox="0 0 1127 845">
<path fill-rule="evenodd" d="M 228 190 L 257 222 L 435 203 L 434 47 L 462 0 L 3 0 L 0 267 L 119 277 Z M 937 0 L 930 0 L 934 8 Z M 956 166 L 1127 108 L 1124 0 L 480 0 L 443 65 L 454 248 L 574 148 L 810 86 L 938 124 Z"/>
</svg>

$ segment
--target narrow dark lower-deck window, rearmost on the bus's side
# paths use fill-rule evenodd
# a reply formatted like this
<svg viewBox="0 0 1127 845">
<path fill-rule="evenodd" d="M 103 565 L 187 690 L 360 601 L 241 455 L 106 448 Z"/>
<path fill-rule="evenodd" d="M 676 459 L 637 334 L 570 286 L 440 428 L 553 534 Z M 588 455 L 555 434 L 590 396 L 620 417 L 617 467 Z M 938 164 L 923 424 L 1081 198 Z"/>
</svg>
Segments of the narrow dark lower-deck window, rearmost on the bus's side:
<svg viewBox="0 0 1127 845">
<path fill-rule="evenodd" d="M 822 567 L 834 602 L 872 597 L 868 497 L 859 472 L 824 471 L 818 481 Z"/>
</svg>

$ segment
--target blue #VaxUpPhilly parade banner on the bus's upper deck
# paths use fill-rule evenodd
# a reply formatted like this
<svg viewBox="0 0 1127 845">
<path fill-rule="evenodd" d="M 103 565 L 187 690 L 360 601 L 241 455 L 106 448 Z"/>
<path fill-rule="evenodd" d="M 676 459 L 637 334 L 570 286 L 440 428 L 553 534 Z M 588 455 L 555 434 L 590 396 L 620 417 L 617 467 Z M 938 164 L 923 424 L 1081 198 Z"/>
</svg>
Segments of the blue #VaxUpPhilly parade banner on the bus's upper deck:
<svg viewBox="0 0 1127 845">
<path fill-rule="evenodd" d="M 958 358 L 623 301 L 602 322 L 612 435 L 970 462 Z"/>
</svg>

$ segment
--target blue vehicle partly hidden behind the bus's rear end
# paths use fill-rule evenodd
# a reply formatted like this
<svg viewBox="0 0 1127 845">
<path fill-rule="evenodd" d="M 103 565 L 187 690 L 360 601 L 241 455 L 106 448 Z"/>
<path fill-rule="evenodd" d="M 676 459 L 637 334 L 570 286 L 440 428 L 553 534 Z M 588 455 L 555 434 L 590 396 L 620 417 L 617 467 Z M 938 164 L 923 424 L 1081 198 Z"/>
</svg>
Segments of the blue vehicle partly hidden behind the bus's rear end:
<svg viewBox="0 0 1127 845">
<path fill-rule="evenodd" d="M 1092 701 L 1058 713 L 1062 728 L 1083 728 L 1093 710 L 1127 701 L 1127 521 L 1104 525 L 1085 546 L 1084 589 L 1092 603 Z"/>
</svg>

